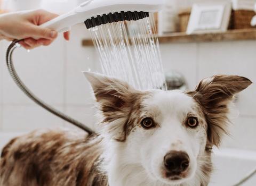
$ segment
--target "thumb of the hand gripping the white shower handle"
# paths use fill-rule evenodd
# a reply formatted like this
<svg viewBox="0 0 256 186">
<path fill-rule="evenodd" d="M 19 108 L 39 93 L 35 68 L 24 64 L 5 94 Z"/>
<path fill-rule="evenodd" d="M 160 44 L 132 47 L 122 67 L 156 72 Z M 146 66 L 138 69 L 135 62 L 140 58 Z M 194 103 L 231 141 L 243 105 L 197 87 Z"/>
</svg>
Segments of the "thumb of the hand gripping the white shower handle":
<svg viewBox="0 0 256 186">
<path fill-rule="evenodd" d="M 58 36 L 58 32 L 48 28 L 42 28 L 39 26 L 32 26 L 28 37 L 33 37 L 35 39 L 44 38 L 44 39 L 55 39 Z"/>
</svg>

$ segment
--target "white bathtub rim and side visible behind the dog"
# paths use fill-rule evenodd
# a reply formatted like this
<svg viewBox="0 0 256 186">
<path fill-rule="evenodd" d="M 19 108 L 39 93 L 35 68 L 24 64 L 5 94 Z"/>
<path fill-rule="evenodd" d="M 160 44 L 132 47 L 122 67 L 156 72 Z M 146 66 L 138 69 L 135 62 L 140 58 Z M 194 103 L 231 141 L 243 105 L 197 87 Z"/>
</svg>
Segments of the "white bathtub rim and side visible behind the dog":
<svg viewBox="0 0 256 186">
<path fill-rule="evenodd" d="M 0 149 L 22 133 L 0 133 Z M 0 150 L 0 151 L 1 151 Z M 236 149 L 214 149 L 214 172 L 209 186 L 233 186 L 256 167 L 256 152 Z M 256 186 L 256 175 L 243 186 Z"/>
</svg>

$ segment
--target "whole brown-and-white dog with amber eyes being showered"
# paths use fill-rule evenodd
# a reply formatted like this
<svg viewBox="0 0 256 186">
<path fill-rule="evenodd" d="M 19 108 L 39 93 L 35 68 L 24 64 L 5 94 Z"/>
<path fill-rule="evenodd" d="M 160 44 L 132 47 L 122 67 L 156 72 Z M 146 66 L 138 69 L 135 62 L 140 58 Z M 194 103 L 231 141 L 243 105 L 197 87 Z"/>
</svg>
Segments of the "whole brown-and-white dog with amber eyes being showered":
<svg viewBox="0 0 256 186">
<path fill-rule="evenodd" d="M 234 96 L 249 79 L 215 75 L 192 91 L 135 90 L 85 72 L 101 131 L 34 131 L 2 150 L 1 186 L 205 186 L 230 123 Z"/>
</svg>

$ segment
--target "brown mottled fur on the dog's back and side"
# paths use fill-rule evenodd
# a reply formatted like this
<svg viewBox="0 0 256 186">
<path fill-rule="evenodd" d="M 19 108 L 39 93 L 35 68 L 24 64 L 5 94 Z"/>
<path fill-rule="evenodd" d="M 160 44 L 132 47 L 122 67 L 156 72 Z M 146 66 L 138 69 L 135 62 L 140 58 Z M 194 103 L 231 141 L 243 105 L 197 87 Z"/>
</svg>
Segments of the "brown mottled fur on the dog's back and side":
<svg viewBox="0 0 256 186">
<path fill-rule="evenodd" d="M 74 134 L 76 135 L 76 134 Z M 15 138 L 1 155 L 1 186 L 107 185 L 99 172 L 100 140 L 67 131 L 33 132 Z"/>
</svg>

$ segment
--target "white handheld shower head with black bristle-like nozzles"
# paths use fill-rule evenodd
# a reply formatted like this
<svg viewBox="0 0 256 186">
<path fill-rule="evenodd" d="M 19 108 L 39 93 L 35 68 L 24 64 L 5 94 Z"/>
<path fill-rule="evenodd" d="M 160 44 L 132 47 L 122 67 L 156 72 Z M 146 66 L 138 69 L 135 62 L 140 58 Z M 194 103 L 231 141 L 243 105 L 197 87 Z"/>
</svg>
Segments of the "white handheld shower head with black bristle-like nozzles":
<svg viewBox="0 0 256 186">
<path fill-rule="evenodd" d="M 87 0 L 41 27 L 65 32 L 71 26 L 82 22 L 89 29 L 109 22 L 139 20 L 148 17 L 148 12 L 162 10 L 163 5 L 164 0 Z"/>
</svg>

